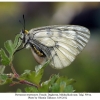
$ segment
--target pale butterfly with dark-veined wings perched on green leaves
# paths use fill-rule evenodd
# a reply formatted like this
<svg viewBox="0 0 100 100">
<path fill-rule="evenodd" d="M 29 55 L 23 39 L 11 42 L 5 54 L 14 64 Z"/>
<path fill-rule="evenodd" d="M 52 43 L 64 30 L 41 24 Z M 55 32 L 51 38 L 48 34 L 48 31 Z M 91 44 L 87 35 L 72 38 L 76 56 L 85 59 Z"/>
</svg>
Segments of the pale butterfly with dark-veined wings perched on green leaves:
<svg viewBox="0 0 100 100">
<path fill-rule="evenodd" d="M 50 60 L 50 66 L 69 66 L 90 38 L 89 29 L 78 25 L 51 25 L 20 32 L 23 48 L 31 48 L 40 64 Z"/>
</svg>

